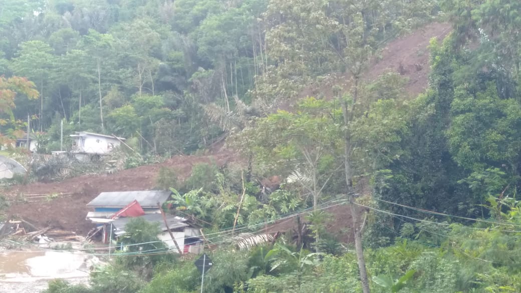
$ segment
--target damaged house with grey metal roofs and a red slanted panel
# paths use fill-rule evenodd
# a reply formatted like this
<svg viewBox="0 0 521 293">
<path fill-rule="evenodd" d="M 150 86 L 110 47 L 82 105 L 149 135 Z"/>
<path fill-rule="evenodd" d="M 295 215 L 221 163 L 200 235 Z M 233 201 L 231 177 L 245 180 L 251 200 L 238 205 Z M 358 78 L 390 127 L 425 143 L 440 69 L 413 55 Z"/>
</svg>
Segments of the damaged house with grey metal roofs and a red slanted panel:
<svg viewBox="0 0 521 293">
<path fill-rule="evenodd" d="M 173 251 L 177 249 L 170 233 L 183 253 L 199 253 L 203 243 L 200 228 L 185 218 L 161 214 L 160 206 L 170 196 L 171 192 L 164 190 L 102 192 L 87 204 L 93 211 L 88 212 L 86 219 L 96 224 L 88 237 L 101 233 L 103 243 L 108 243 L 125 234 L 125 225 L 131 218 L 141 217 L 158 224 L 161 233 L 157 237 Z"/>
</svg>

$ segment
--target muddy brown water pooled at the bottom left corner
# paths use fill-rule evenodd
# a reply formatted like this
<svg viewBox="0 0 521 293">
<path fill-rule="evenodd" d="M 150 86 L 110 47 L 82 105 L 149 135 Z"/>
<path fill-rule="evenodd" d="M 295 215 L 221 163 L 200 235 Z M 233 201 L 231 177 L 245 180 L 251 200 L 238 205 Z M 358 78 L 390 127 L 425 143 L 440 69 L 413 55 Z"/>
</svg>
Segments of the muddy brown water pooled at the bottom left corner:
<svg viewBox="0 0 521 293">
<path fill-rule="evenodd" d="M 36 293 L 47 288 L 49 279 L 63 278 L 85 283 L 92 258 L 84 253 L 60 251 L 0 252 L 0 293 Z"/>
</svg>

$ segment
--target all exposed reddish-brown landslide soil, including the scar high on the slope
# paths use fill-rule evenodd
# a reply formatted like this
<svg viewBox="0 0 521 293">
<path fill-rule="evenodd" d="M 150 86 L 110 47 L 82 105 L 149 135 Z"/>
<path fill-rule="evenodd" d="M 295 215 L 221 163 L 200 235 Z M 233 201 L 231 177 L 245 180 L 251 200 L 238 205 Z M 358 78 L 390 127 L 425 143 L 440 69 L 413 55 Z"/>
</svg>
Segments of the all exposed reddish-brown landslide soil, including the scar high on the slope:
<svg viewBox="0 0 521 293">
<path fill-rule="evenodd" d="M 383 50 L 382 59 L 371 65 L 364 78 L 373 80 L 386 71 L 400 70 L 404 65 L 404 76 L 408 77 L 407 91 L 411 95 L 420 93 L 428 87 L 428 56 L 427 45 L 431 38 L 438 40 L 449 33 L 450 25 L 446 23 L 431 23 L 425 28 L 405 35 L 402 38 L 391 41 Z M 421 68 L 412 65 L 421 64 Z M 345 77 L 338 77 L 337 84 L 342 84 Z M 329 87 L 330 88 L 330 87 Z M 322 86 L 321 90 L 327 89 Z M 49 194 L 72 193 L 50 201 L 41 200 L 31 203 L 15 203 L 8 210 L 12 216 L 27 218 L 40 226 L 53 225 L 66 230 L 75 231 L 78 234 L 86 234 L 92 225 L 85 221 L 85 204 L 91 201 L 98 193 L 103 191 L 131 191 L 155 188 L 155 180 L 158 170 L 162 166 L 173 167 L 179 170 L 181 177 L 190 175 L 191 167 L 195 163 L 210 162 L 215 160 L 219 165 L 233 160 L 234 154 L 226 151 L 216 151 L 214 155 L 206 156 L 174 156 L 170 160 L 156 165 L 141 166 L 134 169 L 122 170 L 113 175 L 80 176 L 69 178 L 60 182 L 35 183 L 27 186 L 15 186 L 9 190 L 9 197 L 17 197 L 18 194 Z M 20 196 L 18 196 L 20 197 Z M 348 206 L 340 205 L 330 209 L 334 215 L 328 224 L 328 229 L 339 236 L 343 241 L 352 240 L 346 234 L 346 226 L 350 226 Z M 283 223 L 277 223 L 269 231 L 286 230 L 294 225 L 293 219 Z"/>
</svg>

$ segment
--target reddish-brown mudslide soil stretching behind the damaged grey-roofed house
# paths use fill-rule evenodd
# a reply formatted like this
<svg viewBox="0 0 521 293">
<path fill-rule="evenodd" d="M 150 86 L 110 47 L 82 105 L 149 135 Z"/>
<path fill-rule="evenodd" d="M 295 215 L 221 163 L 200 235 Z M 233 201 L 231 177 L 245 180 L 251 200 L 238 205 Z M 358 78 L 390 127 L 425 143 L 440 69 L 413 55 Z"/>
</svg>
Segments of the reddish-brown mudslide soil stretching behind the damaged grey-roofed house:
<svg viewBox="0 0 521 293">
<path fill-rule="evenodd" d="M 160 167 L 173 168 L 178 176 L 185 178 L 190 175 L 194 164 L 215 162 L 222 165 L 228 162 L 230 157 L 230 153 L 227 152 L 205 156 L 175 156 L 160 164 L 121 170 L 116 174 L 86 175 L 59 182 L 36 182 L 26 186 L 15 186 L 7 191 L 10 199 L 49 193 L 57 193 L 58 197 L 35 202 L 14 203 L 9 207 L 7 214 L 11 218 L 22 217 L 39 227 L 53 226 L 85 236 L 93 228 L 89 221 L 85 221 L 88 212 L 85 205 L 99 193 L 152 190 L 156 188 Z M 59 195 L 60 193 L 65 194 Z"/>
</svg>

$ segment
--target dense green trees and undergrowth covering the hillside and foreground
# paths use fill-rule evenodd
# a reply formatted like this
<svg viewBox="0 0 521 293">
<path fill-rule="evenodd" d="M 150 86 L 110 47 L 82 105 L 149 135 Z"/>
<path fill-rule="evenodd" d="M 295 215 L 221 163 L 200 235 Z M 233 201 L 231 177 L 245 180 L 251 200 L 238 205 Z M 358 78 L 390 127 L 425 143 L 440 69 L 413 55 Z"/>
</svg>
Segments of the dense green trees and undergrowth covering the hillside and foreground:
<svg viewBox="0 0 521 293">
<path fill-rule="evenodd" d="M 244 166 L 196 165 L 187 179 L 162 169 L 157 182 L 220 244 L 205 292 L 519 292 L 520 11 L 516 0 L 4 0 L 0 130 L 16 136 L 29 115 L 48 152 L 64 120 L 164 156 L 225 135 Z M 387 42 L 431 21 L 453 31 L 429 45 L 424 93 L 405 94 L 393 72 L 363 78 Z M 272 175 L 280 187 L 259 185 Z M 327 229 L 339 204 L 357 215 L 354 243 Z M 311 225 L 296 242 L 254 246 L 234 231 L 299 212 Z M 156 241 L 144 225 L 127 243 Z M 193 260 L 162 249 L 121 252 L 90 287 L 46 292 L 199 292 Z"/>
</svg>

